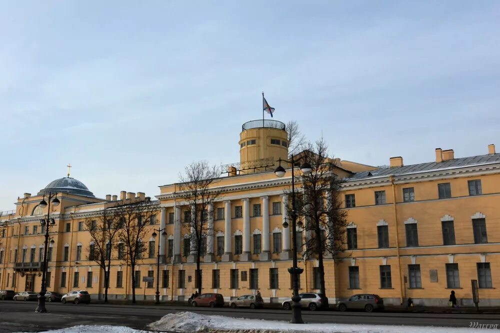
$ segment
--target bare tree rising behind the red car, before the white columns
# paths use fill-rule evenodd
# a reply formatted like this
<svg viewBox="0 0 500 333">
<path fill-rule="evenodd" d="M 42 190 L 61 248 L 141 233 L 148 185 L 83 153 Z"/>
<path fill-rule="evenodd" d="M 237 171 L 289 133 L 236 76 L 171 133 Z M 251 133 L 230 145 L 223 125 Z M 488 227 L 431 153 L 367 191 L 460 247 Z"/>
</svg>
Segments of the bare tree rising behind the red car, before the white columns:
<svg viewBox="0 0 500 333">
<path fill-rule="evenodd" d="M 220 190 L 213 188 L 218 182 L 219 168 L 209 166 L 207 161 L 193 162 L 184 168 L 185 175 L 179 175 L 180 192 L 185 205 L 182 226 L 185 234 L 184 242 L 189 242 L 190 252 L 196 257 L 196 289 L 201 293 L 200 257 L 206 251 L 206 236 L 213 233 L 213 226 L 208 220 L 213 217 L 209 206 L 220 195 Z"/>
</svg>

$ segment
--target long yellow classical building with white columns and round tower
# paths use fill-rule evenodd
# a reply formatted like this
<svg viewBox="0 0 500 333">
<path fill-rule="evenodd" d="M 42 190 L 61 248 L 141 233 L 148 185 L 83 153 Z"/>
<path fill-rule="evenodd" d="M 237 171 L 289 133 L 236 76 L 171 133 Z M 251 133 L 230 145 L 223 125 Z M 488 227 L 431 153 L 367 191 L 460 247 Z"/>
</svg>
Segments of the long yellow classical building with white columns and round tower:
<svg viewBox="0 0 500 333">
<path fill-rule="evenodd" d="M 213 233 L 206 235 L 202 258 L 203 292 L 222 294 L 226 301 L 259 290 L 265 302 L 291 295 L 290 228 L 285 194 L 290 172 L 277 178 L 278 158 L 287 158 L 287 135 L 279 121 L 250 121 L 238 141 L 240 162 L 225 166 L 223 189 L 209 214 Z M 486 152 L 486 151 L 485 151 Z M 454 158 L 453 150 L 436 149 L 435 161 L 403 165 L 390 158 L 390 167 L 375 168 L 335 159 L 348 210 L 348 249 L 341 258 L 326 258 L 326 294 L 330 303 L 357 293 L 373 293 L 385 303 L 447 305 L 451 290 L 459 304 L 471 305 L 471 280 L 479 283 L 481 306 L 499 306 L 500 292 L 500 154 L 494 145 L 487 154 Z M 182 166 L 179 166 L 181 168 Z M 299 185 L 298 185 L 299 186 Z M 122 191 L 95 198 L 81 182 L 64 177 L 31 196 L 18 198 L 15 211 L 0 220 L 0 289 L 40 289 L 43 235 L 39 220 L 47 208 L 38 207 L 43 195 L 61 193 L 51 207 L 48 290 L 65 293 L 86 289 L 102 298 L 103 273 L 87 260 L 91 238 L 84 221 L 116 202 L 143 200 L 144 193 Z M 136 267 L 135 277 L 156 277 L 156 247 L 160 251 L 161 300 L 187 300 L 194 291 L 194 256 L 184 242 L 182 202 L 178 184 L 160 186 L 151 205 L 156 219 L 142 240 L 150 249 Z M 166 236 L 152 237 L 165 228 Z M 299 238 L 305 237 L 297 229 Z M 298 243 L 298 242 L 297 242 Z M 297 244 L 301 252 L 301 244 Z M 299 254 L 299 259 L 301 258 Z M 300 292 L 317 292 L 317 260 L 302 259 Z M 153 299 L 154 283 L 139 282 L 137 299 Z M 121 260 L 110 269 L 110 299 L 130 298 L 130 268 Z"/>
</svg>

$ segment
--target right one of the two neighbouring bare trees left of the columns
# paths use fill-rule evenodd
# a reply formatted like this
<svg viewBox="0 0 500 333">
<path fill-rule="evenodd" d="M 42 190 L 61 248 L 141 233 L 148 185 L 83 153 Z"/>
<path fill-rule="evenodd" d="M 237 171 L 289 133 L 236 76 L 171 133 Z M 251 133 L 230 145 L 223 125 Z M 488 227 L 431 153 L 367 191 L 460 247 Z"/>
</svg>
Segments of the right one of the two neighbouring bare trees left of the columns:
<svg viewBox="0 0 500 333">
<path fill-rule="evenodd" d="M 118 240 L 124 244 L 124 260 L 126 265 L 130 266 L 132 303 L 135 304 L 135 266 L 146 252 L 143 239 L 148 231 L 146 226 L 155 215 L 156 206 L 146 197 L 145 200 L 125 202 L 116 206 L 114 210 L 118 219 Z"/>
</svg>

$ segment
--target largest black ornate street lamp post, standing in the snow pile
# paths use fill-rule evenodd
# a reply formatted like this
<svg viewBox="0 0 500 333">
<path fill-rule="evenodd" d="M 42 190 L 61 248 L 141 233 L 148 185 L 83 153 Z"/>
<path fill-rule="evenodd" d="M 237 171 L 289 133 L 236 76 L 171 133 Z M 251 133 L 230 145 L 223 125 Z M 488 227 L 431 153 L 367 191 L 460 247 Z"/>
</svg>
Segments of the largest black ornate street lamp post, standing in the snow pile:
<svg viewBox="0 0 500 333">
<path fill-rule="evenodd" d="M 283 177 L 284 174 L 286 173 L 285 169 L 281 166 L 281 159 L 279 161 L 279 166 L 274 170 L 274 174 L 277 177 Z M 292 276 L 292 281 L 293 281 L 293 296 L 291 298 L 292 304 L 291 304 L 291 320 L 290 323 L 292 324 L 303 324 L 304 321 L 302 320 L 302 314 L 301 314 L 301 306 L 300 306 L 300 296 L 298 296 L 298 276 L 304 271 L 303 269 L 299 268 L 297 265 L 297 231 L 296 231 L 296 226 L 297 226 L 297 213 L 295 211 L 295 176 L 294 176 L 294 164 L 295 160 L 293 160 L 293 155 L 291 156 L 291 159 L 289 161 L 284 161 L 288 162 L 291 164 L 291 242 L 293 243 L 292 245 L 292 262 L 293 266 L 288 269 L 288 272 Z M 311 172 L 311 167 L 308 163 L 303 163 L 300 166 L 300 170 L 304 175 L 308 175 Z M 283 223 L 283 227 L 288 227 L 288 223 L 285 221 Z"/>
</svg>

